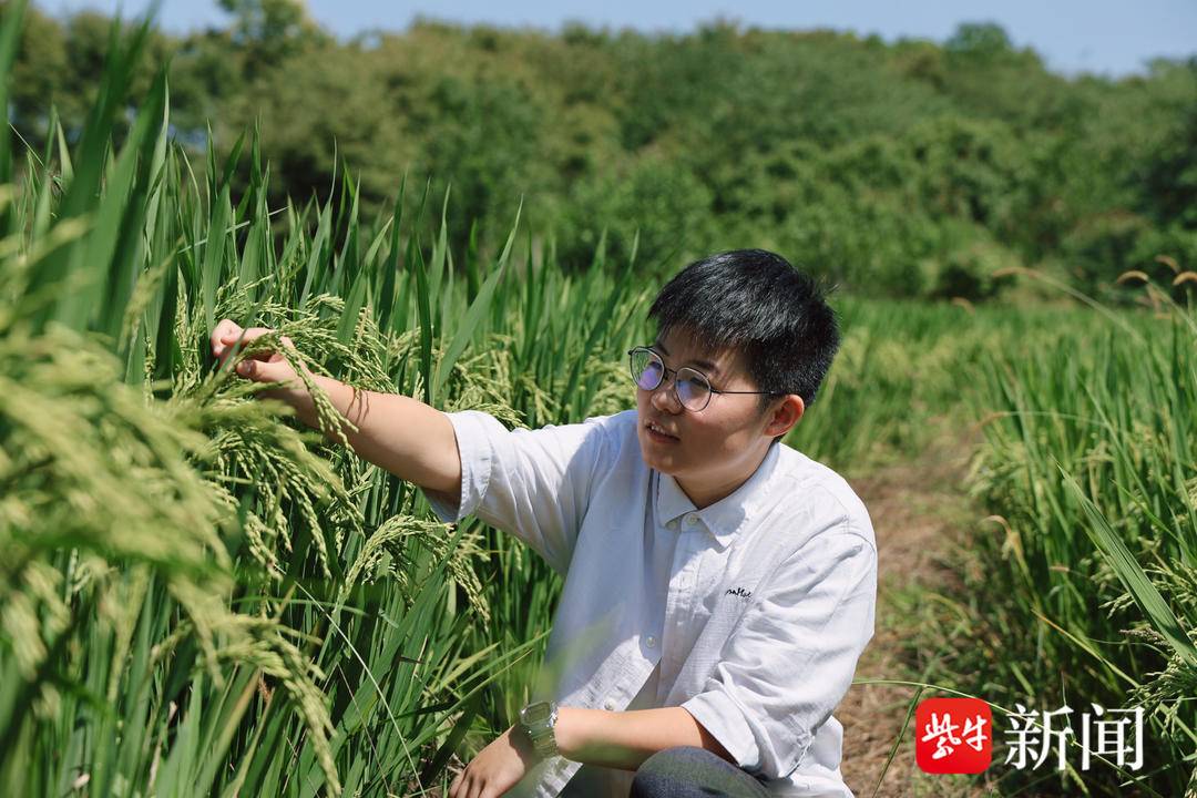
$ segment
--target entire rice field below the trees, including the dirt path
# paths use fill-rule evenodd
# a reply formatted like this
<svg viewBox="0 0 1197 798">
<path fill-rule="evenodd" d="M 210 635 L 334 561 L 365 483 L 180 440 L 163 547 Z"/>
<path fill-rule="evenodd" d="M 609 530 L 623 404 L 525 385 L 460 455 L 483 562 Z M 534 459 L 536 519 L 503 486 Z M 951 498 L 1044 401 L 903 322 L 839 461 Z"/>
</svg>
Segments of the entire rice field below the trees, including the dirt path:
<svg viewBox="0 0 1197 798">
<path fill-rule="evenodd" d="M 255 397 L 208 335 L 271 327 L 317 372 L 536 427 L 633 406 L 622 353 L 658 286 L 602 242 L 560 268 L 517 206 L 496 256 L 454 249 L 451 193 L 367 214 L 352 170 L 273 207 L 253 135 L 230 163 L 170 140 L 164 80 L 116 124 L 138 47 L 114 41 L 78 140 L 0 136 L 0 792 L 444 794 L 528 700 L 559 580 L 437 523 L 327 402 L 321 435 Z M 858 794 L 1197 796 L 1197 275 L 1174 273 L 1118 309 L 833 298 L 845 343 L 786 443 L 861 486 L 961 463 L 934 562 L 882 564 Z M 992 705 L 985 773 L 913 773 L 930 695 Z M 1063 768 L 1003 763 L 1017 705 L 1094 703 L 1142 707 L 1137 767 L 1082 768 L 1075 738 Z M 880 755 L 853 760 L 867 730 Z"/>
</svg>

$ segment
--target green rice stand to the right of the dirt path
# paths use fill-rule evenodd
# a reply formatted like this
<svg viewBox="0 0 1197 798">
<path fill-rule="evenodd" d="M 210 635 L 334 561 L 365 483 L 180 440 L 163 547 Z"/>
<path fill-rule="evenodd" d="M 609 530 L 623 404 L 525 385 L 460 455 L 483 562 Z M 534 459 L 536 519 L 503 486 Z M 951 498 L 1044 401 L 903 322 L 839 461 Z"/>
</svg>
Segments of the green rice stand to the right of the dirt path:
<svg viewBox="0 0 1197 798">
<path fill-rule="evenodd" d="M 1004 706 L 1148 717 L 1142 769 L 1073 769 L 1063 791 L 1197 790 L 1197 324 L 1149 296 L 1161 312 L 1101 309 L 982 361 L 971 395 L 985 432 L 972 485 L 995 514 L 961 553 L 943 627 L 955 653 L 937 676 Z"/>
</svg>

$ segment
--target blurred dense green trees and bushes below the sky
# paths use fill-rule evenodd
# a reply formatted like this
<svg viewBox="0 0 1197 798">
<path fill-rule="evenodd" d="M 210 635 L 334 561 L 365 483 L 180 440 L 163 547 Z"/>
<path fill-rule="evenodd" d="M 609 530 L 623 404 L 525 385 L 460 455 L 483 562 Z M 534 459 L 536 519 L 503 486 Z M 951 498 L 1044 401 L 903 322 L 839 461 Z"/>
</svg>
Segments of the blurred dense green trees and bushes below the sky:
<svg viewBox="0 0 1197 798">
<path fill-rule="evenodd" d="M 170 59 L 177 139 L 201 152 L 211 126 L 227 156 L 257 126 L 271 207 L 327 199 L 340 160 L 366 211 L 405 173 L 451 183 L 451 243 L 476 224 L 484 254 L 523 196 L 565 268 L 587 267 L 604 229 L 622 258 L 638 231 L 648 263 L 765 246 L 885 297 L 984 299 L 1010 266 L 1107 293 L 1129 268 L 1197 257 L 1192 61 L 1069 79 L 986 23 L 942 44 L 427 20 L 342 42 L 287 0 L 224 6 L 225 28 L 154 33 L 132 97 Z M 12 102 L 35 146 L 54 112 L 81 129 L 108 23 L 29 16 Z"/>
</svg>

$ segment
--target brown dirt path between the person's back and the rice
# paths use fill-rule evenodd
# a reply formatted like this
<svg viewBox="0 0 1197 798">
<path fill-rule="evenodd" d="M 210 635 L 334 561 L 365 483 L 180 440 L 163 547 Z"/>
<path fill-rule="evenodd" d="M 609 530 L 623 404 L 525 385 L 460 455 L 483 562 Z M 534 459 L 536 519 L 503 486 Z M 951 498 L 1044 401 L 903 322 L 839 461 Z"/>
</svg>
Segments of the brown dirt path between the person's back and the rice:
<svg viewBox="0 0 1197 798">
<path fill-rule="evenodd" d="M 984 517 L 962 486 L 978 444 L 979 434 L 973 431 L 944 428 L 916 462 L 849 480 L 873 519 L 879 567 L 876 632 L 856 678 L 905 678 L 904 639 L 917 621 L 900 593 L 919 584 L 942 585 L 949 575 L 940 562 L 941 553 Z M 855 684 L 836 709 L 844 724 L 841 770 L 859 798 L 874 794 L 915 694 L 912 687 Z M 913 719 L 876 794 L 983 794 L 961 776 L 919 770 L 912 741 Z"/>
</svg>

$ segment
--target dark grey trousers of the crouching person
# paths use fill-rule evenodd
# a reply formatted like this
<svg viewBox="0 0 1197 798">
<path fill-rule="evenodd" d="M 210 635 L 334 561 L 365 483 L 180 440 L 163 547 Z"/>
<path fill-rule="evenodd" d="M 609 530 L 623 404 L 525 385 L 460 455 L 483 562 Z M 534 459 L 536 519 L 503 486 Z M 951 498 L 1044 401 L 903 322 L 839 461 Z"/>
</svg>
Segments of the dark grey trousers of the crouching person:
<svg viewBox="0 0 1197 798">
<path fill-rule="evenodd" d="M 579 778 L 583 776 L 583 778 Z M 754 775 L 723 757 L 694 745 L 667 748 L 644 760 L 632 779 L 630 798 L 766 798 L 768 791 Z M 607 798 L 585 781 L 582 770 L 560 798 Z"/>
</svg>

